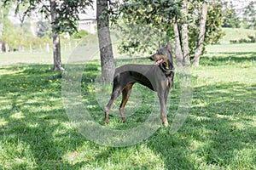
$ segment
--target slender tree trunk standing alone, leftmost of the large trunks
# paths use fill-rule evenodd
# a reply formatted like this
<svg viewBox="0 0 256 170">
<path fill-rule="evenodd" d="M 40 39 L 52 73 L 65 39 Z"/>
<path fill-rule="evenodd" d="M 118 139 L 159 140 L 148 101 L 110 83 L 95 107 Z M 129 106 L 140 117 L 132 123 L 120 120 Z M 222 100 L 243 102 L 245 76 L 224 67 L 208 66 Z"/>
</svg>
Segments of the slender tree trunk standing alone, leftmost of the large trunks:
<svg viewBox="0 0 256 170">
<path fill-rule="evenodd" d="M 51 16 L 51 26 L 52 26 L 52 38 L 53 38 L 53 57 L 54 57 L 54 66 L 55 71 L 61 70 L 64 68 L 61 66 L 61 40 L 60 34 L 56 30 L 55 20 L 57 17 L 56 11 L 56 2 L 55 0 L 50 0 L 50 16 Z"/>
</svg>

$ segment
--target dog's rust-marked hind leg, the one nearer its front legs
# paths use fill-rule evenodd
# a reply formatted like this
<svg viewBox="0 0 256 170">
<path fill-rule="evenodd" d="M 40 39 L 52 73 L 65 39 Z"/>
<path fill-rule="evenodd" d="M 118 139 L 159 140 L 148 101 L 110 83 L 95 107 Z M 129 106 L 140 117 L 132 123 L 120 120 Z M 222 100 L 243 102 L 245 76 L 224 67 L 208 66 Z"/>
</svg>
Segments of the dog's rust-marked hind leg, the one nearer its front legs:
<svg viewBox="0 0 256 170">
<path fill-rule="evenodd" d="M 123 98 L 122 98 L 121 105 L 119 107 L 119 111 L 120 111 L 120 115 L 121 115 L 121 118 L 122 118 L 123 122 L 126 122 L 124 111 L 125 111 L 125 105 L 126 105 L 128 99 L 129 99 L 130 95 L 131 95 L 132 85 L 133 85 L 133 82 L 130 83 L 130 84 L 127 84 L 125 86 L 125 88 L 123 89 L 123 91 L 122 91 Z"/>
</svg>

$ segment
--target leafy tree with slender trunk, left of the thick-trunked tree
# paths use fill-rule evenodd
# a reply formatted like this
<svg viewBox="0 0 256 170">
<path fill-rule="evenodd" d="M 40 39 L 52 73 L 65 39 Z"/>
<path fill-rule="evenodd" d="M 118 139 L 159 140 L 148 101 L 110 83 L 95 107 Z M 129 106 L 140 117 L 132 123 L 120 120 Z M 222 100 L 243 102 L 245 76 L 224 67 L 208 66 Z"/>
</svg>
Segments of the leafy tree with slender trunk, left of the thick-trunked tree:
<svg viewBox="0 0 256 170">
<path fill-rule="evenodd" d="M 55 70 L 63 70 L 60 34 L 77 31 L 76 21 L 79 20 L 79 13 L 85 13 L 86 8 L 92 6 L 93 0 L 4 0 L 5 5 L 13 2 L 18 2 L 16 11 L 19 11 L 20 6 L 27 7 L 24 15 L 38 10 L 46 18 L 51 18 L 54 67 Z"/>
</svg>

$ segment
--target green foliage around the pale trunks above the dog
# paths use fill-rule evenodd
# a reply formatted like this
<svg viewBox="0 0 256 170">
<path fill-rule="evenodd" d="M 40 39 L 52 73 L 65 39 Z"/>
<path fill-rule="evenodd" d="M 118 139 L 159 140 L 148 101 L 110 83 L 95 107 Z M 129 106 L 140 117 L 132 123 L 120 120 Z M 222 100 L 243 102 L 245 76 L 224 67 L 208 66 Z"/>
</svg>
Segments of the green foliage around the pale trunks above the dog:
<svg viewBox="0 0 256 170">
<path fill-rule="evenodd" d="M 195 53 L 197 46 L 197 38 L 199 34 L 200 25 L 200 14 L 201 14 L 201 1 L 189 1 L 189 14 L 183 16 L 180 13 L 183 8 L 183 1 L 125 1 L 120 6 L 120 15 L 122 16 L 122 22 L 126 24 L 126 27 L 131 27 L 133 31 L 125 32 L 129 33 L 127 41 L 123 42 L 121 50 L 134 54 L 136 51 L 147 49 L 148 44 L 157 42 L 162 44 L 168 41 L 170 38 L 173 39 L 174 33 L 172 30 L 172 20 L 175 16 L 177 18 L 179 30 L 183 23 L 189 24 L 189 48 L 190 56 Z M 223 25 L 223 15 L 221 13 L 222 3 L 217 0 L 211 1 L 208 5 L 207 12 L 207 26 L 206 26 L 206 37 L 204 46 L 207 44 L 218 43 L 221 37 L 224 36 L 221 26 Z M 139 31 L 134 30 L 133 25 L 152 26 L 155 30 L 158 30 L 160 35 L 166 35 L 165 37 L 158 37 L 156 39 L 148 39 L 148 43 L 143 43 L 137 34 Z M 146 31 L 147 32 L 147 31 Z M 147 32 L 148 33 L 148 32 Z M 146 34 L 147 34 L 146 33 Z M 149 48 L 149 47 L 148 47 Z M 205 50 L 203 50 L 203 53 Z"/>
</svg>

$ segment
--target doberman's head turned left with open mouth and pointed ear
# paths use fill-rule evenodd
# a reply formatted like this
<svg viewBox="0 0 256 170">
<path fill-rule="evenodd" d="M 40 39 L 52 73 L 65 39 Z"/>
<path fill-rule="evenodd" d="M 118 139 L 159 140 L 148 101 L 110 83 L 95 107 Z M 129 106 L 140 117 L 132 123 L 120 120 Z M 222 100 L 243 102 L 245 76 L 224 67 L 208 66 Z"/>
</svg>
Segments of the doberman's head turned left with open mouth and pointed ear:
<svg viewBox="0 0 256 170">
<path fill-rule="evenodd" d="M 149 59 L 154 60 L 154 65 L 160 65 L 166 71 L 173 70 L 172 46 L 170 43 L 166 47 L 158 48 L 156 53 Z"/>
</svg>

